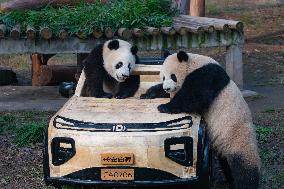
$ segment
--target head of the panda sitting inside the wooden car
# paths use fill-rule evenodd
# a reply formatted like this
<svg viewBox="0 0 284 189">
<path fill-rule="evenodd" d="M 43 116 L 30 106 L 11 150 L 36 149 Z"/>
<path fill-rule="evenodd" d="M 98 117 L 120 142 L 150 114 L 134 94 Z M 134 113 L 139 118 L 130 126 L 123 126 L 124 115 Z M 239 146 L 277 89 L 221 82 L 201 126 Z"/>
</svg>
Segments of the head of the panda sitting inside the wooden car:
<svg viewBox="0 0 284 189">
<path fill-rule="evenodd" d="M 104 68 L 118 82 L 124 82 L 135 67 L 137 47 L 115 39 L 103 46 Z"/>
</svg>

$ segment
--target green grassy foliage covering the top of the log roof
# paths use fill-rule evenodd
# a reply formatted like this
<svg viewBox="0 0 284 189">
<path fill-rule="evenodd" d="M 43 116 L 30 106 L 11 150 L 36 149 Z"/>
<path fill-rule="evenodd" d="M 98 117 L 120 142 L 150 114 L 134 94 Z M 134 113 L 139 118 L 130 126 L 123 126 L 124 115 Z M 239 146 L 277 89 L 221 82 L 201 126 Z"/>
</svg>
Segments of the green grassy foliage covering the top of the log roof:
<svg viewBox="0 0 284 189">
<path fill-rule="evenodd" d="M 12 28 L 30 25 L 39 30 L 49 27 L 54 33 L 66 29 L 69 34 L 82 32 L 91 34 L 94 29 L 107 27 L 118 29 L 142 28 L 146 26 L 170 26 L 177 11 L 171 9 L 169 0 L 110 0 L 103 4 L 81 3 L 74 7 L 54 8 L 47 6 L 40 10 L 13 11 L 0 14 L 0 23 Z"/>
</svg>

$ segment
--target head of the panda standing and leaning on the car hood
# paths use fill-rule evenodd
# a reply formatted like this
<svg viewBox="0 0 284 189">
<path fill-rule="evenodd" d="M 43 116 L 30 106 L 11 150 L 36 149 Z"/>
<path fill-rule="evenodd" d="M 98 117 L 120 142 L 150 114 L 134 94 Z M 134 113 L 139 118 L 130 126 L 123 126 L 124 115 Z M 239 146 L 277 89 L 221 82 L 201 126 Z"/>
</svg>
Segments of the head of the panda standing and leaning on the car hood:
<svg viewBox="0 0 284 189">
<path fill-rule="evenodd" d="M 168 93 L 178 91 L 188 75 L 189 56 L 184 51 L 168 56 L 162 66 L 160 77 L 163 89 Z"/>
</svg>

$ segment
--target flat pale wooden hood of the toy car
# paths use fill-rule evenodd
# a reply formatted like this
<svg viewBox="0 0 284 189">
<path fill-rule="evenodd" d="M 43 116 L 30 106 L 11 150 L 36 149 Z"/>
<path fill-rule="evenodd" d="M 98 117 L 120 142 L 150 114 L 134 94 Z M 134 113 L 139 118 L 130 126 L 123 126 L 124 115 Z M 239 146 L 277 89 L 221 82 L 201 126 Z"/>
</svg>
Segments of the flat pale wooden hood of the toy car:
<svg viewBox="0 0 284 189">
<path fill-rule="evenodd" d="M 170 99 L 98 99 L 72 97 L 59 115 L 95 123 L 159 123 L 177 119 L 186 114 L 164 114 L 158 105 Z"/>
</svg>

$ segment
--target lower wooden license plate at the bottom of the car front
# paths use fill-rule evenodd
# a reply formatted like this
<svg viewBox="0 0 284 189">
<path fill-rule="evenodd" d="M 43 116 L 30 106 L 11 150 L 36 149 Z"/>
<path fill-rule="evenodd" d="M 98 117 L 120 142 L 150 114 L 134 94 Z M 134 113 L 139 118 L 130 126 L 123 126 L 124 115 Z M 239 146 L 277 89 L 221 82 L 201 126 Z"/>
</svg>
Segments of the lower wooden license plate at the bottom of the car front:
<svg viewBox="0 0 284 189">
<path fill-rule="evenodd" d="M 101 169 L 102 180 L 134 180 L 134 169 Z"/>
</svg>

